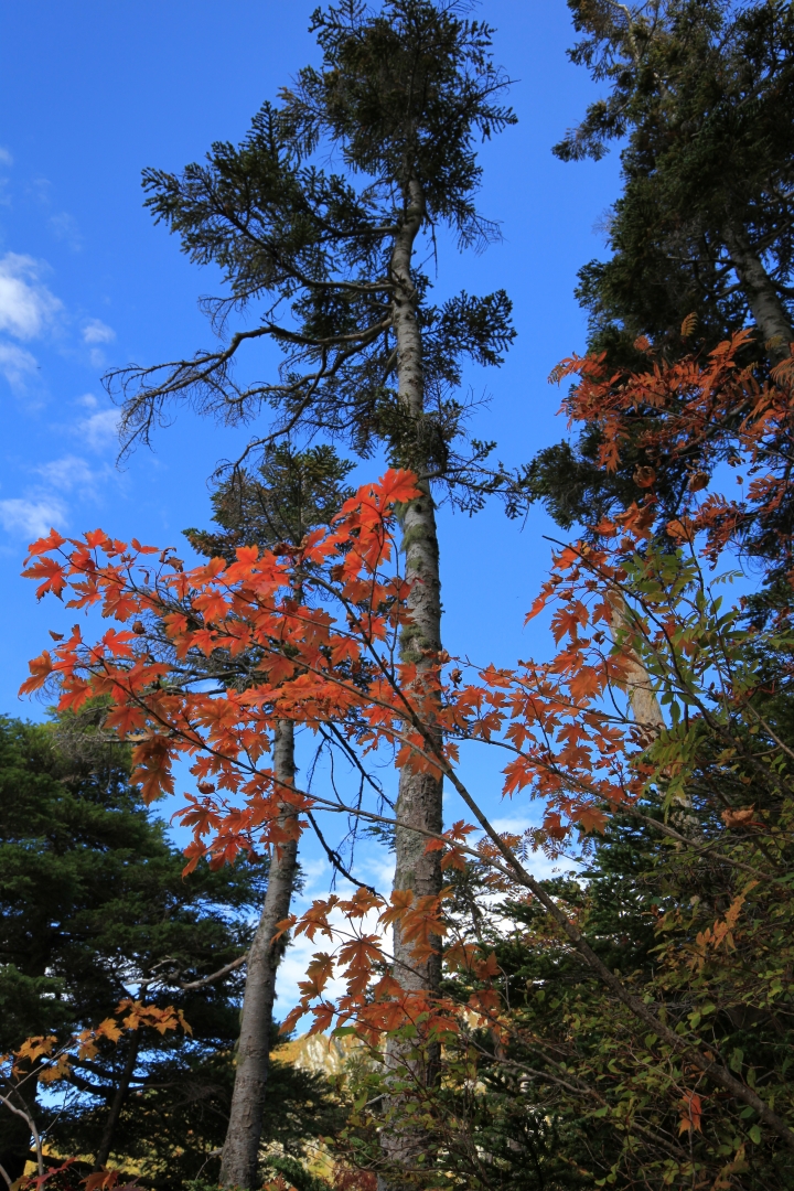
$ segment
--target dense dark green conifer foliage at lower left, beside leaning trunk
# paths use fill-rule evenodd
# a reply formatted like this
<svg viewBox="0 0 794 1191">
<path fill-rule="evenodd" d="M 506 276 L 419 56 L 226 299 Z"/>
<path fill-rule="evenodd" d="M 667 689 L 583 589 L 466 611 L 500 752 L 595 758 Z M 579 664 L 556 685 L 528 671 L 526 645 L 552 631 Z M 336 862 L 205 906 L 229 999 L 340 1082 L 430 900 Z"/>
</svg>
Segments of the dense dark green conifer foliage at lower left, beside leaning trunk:
<svg viewBox="0 0 794 1191">
<path fill-rule="evenodd" d="M 0 1049 L 96 1025 L 151 980 L 145 999 L 182 1009 L 193 1036 L 145 1033 L 111 1161 L 177 1187 L 223 1145 L 242 972 L 181 985 L 242 955 L 267 874 L 245 863 L 183 878 L 185 858 L 129 785 L 127 750 L 102 738 L 101 709 L 81 718 L 0 718 Z M 25 1085 L 56 1153 L 96 1153 L 130 1039 L 75 1062 L 69 1084 L 38 1104 Z M 274 1080 L 268 1141 L 300 1148 L 329 1129 L 323 1080 L 279 1064 Z M 27 1143 L 26 1127 L 0 1112 L 0 1162 L 12 1177 Z"/>
</svg>

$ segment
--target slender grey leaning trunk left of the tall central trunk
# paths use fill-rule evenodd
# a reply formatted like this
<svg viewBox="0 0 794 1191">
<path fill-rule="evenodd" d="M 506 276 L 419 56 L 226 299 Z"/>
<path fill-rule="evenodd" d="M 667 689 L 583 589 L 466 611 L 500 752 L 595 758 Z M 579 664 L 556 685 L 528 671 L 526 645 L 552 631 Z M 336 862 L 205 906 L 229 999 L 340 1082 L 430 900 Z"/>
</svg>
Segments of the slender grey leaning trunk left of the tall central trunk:
<svg viewBox="0 0 794 1191">
<path fill-rule="evenodd" d="M 281 719 L 276 729 L 274 769 L 280 781 L 292 784 L 295 777 L 295 736 L 294 725 L 288 719 Z M 282 819 L 294 815 L 295 811 L 285 805 Z M 220 1184 L 225 1187 L 249 1191 L 260 1186 L 257 1166 L 270 1065 L 273 1002 L 276 971 L 283 953 L 283 944 L 274 943 L 273 936 L 276 923 L 289 913 L 296 867 L 298 842 L 289 840 L 277 854 L 274 850 L 262 916 L 248 956 L 235 1091 L 220 1166 Z"/>
</svg>

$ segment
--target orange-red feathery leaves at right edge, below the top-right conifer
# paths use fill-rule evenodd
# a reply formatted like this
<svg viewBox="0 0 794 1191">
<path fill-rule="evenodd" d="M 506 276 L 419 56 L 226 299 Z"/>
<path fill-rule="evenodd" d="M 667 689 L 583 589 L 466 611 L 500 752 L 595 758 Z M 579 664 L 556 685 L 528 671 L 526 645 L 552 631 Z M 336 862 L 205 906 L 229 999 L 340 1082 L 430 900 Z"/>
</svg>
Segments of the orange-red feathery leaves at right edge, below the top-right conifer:
<svg viewBox="0 0 794 1191">
<path fill-rule="evenodd" d="M 687 319 L 682 333 L 695 325 Z M 759 379 L 743 355 L 750 338 L 750 331 L 739 331 L 708 354 L 694 350 L 673 362 L 643 338 L 636 344 L 643 357 L 637 369 L 615 370 L 600 353 L 563 361 L 552 379 L 577 378 L 563 410 L 571 424 L 596 431 L 596 462 L 604 472 L 625 467 L 626 449 L 630 459 L 642 453 L 633 482 L 652 494 L 644 504 L 650 524 L 662 528 L 669 518 L 682 540 L 705 532 L 712 561 L 730 543 L 762 561 L 769 584 L 792 568 L 793 370 L 784 360 L 770 379 Z M 740 499 L 736 487 L 726 493 L 723 482 L 713 486 L 724 463 L 736 470 Z M 601 511 L 608 516 L 619 507 L 613 500 Z"/>
</svg>

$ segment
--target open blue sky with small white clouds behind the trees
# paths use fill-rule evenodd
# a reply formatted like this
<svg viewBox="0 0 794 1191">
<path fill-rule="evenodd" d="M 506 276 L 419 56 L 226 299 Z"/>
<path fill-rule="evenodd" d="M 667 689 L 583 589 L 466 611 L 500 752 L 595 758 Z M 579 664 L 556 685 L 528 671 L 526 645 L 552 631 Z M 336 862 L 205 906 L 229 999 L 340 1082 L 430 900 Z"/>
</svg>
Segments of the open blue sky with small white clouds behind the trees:
<svg viewBox="0 0 794 1191">
<path fill-rule="evenodd" d="M 115 467 L 115 412 L 100 385 L 108 367 L 154 363 L 211 341 L 196 308 L 217 292 L 142 207 L 140 170 L 179 170 L 212 141 L 237 141 L 265 99 L 317 57 L 307 33 L 314 0 L 25 0 L 0 26 L 0 710 L 40 718 L 17 699 L 27 660 L 73 615 L 37 606 L 19 578 L 26 544 L 55 524 L 101 525 L 185 544 L 208 523 L 207 476 L 242 432 L 182 411 L 155 450 Z M 481 206 L 504 243 L 461 257 L 442 243 L 438 292 L 505 287 L 518 339 L 499 372 L 467 385 L 490 405 L 474 424 L 507 464 L 563 436 L 552 366 L 581 350 L 577 268 L 602 255 L 595 230 L 618 193 L 618 158 L 562 164 L 551 145 L 594 96 L 570 66 L 563 0 L 487 0 L 495 56 L 515 80 L 519 125 L 484 148 Z M 362 479 L 371 472 L 365 464 Z M 555 532 L 540 510 L 525 525 L 494 506 L 474 518 L 442 510 L 445 643 L 477 661 L 509 663 L 548 649 L 523 629 Z M 493 767 L 473 777 L 492 802 Z M 493 805 L 492 805 L 493 810 Z M 508 811 L 507 817 L 524 811 Z M 319 867 L 318 867 L 319 873 Z"/>
</svg>

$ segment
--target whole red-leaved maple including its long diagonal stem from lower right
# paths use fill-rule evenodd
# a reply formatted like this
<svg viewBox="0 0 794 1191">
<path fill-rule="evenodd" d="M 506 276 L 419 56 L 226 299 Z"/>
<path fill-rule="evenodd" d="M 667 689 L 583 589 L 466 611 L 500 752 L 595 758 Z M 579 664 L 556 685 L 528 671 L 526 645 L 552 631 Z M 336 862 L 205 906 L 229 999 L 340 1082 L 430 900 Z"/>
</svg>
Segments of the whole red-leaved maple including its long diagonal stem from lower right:
<svg viewBox="0 0 794 1191">
<path fill-rule="evenodd" d="M 645 385 L 646 379 L 642 376 L 637 384 Z M 784 392 L 780 399 L 786 399 Z M 314 792 L 276 790 L 273 768 L 261 763 L 268 748 L 265 729 L 274 717 L 290 716 L 308 727 L 335 721 L 360 748 L 390 747 L 402 766 L 443 772 L 482 830 L 479 843 L 468 842 L 473 828 L 465 824 L 445 834 L 420 833 L 425 847 L 442 853 L 444 869 L 463 867 L 471 858 L 487 869 L 496 888 L 507 881 L 544 909 L 551 929 L 633 1019 L 632 1036 L 639 1027 L 654 1039 L 648 1046 L 658 1045 L 652 1055 L 657 1075 L 673 1060 L 681 1065 L 681 1074 L 664 1085 L 673 1089 L 676 1103 L 683 1095 L 683 1073 L 695 1072 L 695 1083 L 687 1085 L 693 1096 L 700 1096 L 696 1089 L 707 1081 L 731 1104 L 749 1110 L 758 1128 L 790 1148 L 794 1134 L 781 1106 L 782 1089 L 764 1099 L 752 1078 L 745 1080 L 725 1064 L 713 1037 L 702 1036 L 699 1012 L 671 1028 L 664 1014 L 658 1015 L 633 991 L 631 980 L 615 975 L 588 943 L 576 913 L 567 913 L 561 899 L 527 872 L 515 850 L 518 841 L 490 827 L 456 768 L 461 741 L 498 742 L 508 749 L 512 760 L 505 768 L 505 792 L 515 796 L 530 788 L 543 799 L 545 819 L 537 840 L 552 847 L 575 825 L 583 833 L 604 830 L 615 812 L 642 819 L 642 799 L 649 788 L 657 788 L 663 791 L 671 815 L 669 821 L 655 821 L 658 831 L 688 849 L 687 854 L 712 848 L 712 841 L 704 844 L 699 835 L 690 838 L 686 823 L 676 819 L 676 800 L 686 793 L 693 772 L 705 763 L 693 752 L 694 743 L 706 724 L 717 740 L 736 748 L 745 731 L 757 728 L 759 712 L 754 705 L 756 674 L 745 662 L 752 632 L 739 625 L 738 611 L 721 613 L 719 599 L 707 587 L 698 551 L 690 545 L 695 511 L 688 523 L 679 520 L 669 526 L 668 541 L 679 543 L 675 549 L 648 542 L 652 497 L 600 524 L 598 544 L 583 542 L 561 549 L 552 576 L 532 610 L 537 613 L 549 601 L 556 604 L 551 626 L 562 648 L 552 661 L 525 663 L 515 671 L 487 667 L 467 675 L 471 680 L 464 682 L 462 662 L 439 659 L 419 684 L 415 665 L 401 661 L 396 647 L 401 624 L 411 616 L 408 585 L 399 573 L 385 569 L 393 557 L 392 511 L 395 503 L 411 497 L 413 484 L 411 474 L 387 473 L 380 484 L 363 487 L 348 501 L 330 531 L 315 531 L 289 554 L 242 548 L 230 566 L 218 559 L 188 572 L 179 562 L 169 566 L 167 555 L 155 563 L 150 559 L 156 551 L 137 543 L 127 548 L 100 532 L 71 543 L 51 535 L 36 544 L 29 567 L 31 578 L 40 580 L 39 592 L 63 596 L 69 590 L 76 606 L 101 601 L 106 616 L 132 622 L 132 630 L 110 629 L 99 643 L 83 644 L 75 628 L 54 655 L 31 663 L 33 673 L 26 688 L 56 675 L 64 705 L 93 692 L 108 694 L 115 703 L 111 723 L 121 734 L 143 737 L 136 746 L 138 780 L 150 797 L 171 788 L 173 757 L 182 753 L 195 757 L 193 772 L 201 782 L 200 794 L 188 796 L 183 815 L 195 833 L 188 849 L 190 863 L 204 855 L 220 863 L 239 849 L 251 849 L 255 841 L 277 848 L 283 841 L 280 798 L 295 806 L 296 830 L 306 825 L 302 812 L 339 809 L 333 799 Z M 765 490 L 761 486 L 757 491 L 763 513 Z M 708 510 L 708 498 L 702 507 Z M 704 525 L 711 528 L 708 513 L 704 517 Z M 707 550 L 713 554 L 725 541 L 725 535 L 712 535 Z M 311 607 L 295 599 L 298 574 L 302 591 L 315 584 L 325 593 L 324 605 Z M 627 610 L 612 643 L 611 590 L 620 592 Z M 331 599 L 338 607 L 336 619 L 330 612 Z M 783 631 L 777 640 L 780 648 L 788 637 Z M 175 661 L 157 656 L 164 646 Z M 255 646 L 256 673 L 250 661 Z M 192 651 L 206 657 L 215 650 L 223 651 L 220 674 L 227 685 L 214 691 L 194 688 Z M 625 700 L 623 705 L 619 701 L 637 656 L 669 709 L 668 727 L 650 746 Z M 246 667 L 244 688 L 235 686 L 236 657 Z M 196 673 L 204 674 L 200 667 Z M 434 730 L 438 723 L 443 729 L 440 744 Z M 767 725 L 757 732 L 756 743 L 762 748 L 756 763 L 777 788 L 783 780 L 779 772 L 784 748 L 770 749 L 770 734 L 774 743 L 774 729 Z M 706 741 L 711 747 L 708 734 Z M 726 765 L 730 769 L 733 753 L 725 746 L 711 761 L 718 771 Z M 719 774 L 711 774 L 711 780 L 719 788 Z M 688 805 L 686 798 L 683 805 Z M 381 818 L 364 807 L 344 809 L 364 819 Z M 734 868 L 739 874 L 752 874 L 755 840 L 750 841 L 749 856 L 740 836 L 738 852 L 732 850 L 732 831 L 744 824 L 744 809 L 729 800 L 724 810 L 713 844 L 719 846 L 719 860 L 733 877 Z M 768 823 L 775 849 L 784 850 L 784 804 L 759 813 L 754 829 Z M 769 843 L 762 854 L 767 863 L 777 862 L 769 859 Z M 726 910 L 700 930 L 695 950 L 700 949 L 704 964 L 713 956 L 719 960 L 720 948 L 730 949 L 746 899 L 761 896 L 752 880 L 744 880 L 744 875 L 740 880 L 743 886 L 734 890 Z M 775 888 L 775 897 L 780 896 L 781 890 Z M 401 1030 L 415 1033 L 420 1023 L 419 1039 L 412 1042 L 414 1052 L 421 1050 L 429 1037 L 459 1037 L 465 1023 L 459 999 L 426 989 L 405 989 L 388 971 L 382 937 L 382 928 L 399 919 L 404 936 L 421 958 L 436 947 L 437 937 L 449 936 L 446 897 L 417 899 L 395 891 L 387 902 L 360 886 L 351 897 L 315 902 L 299 919 L 290 917 L 282 923 L 282 929 L 332 942 L 331 952 L 318 954 L 310 966 L 301 1004 L 290 1019 L 310 1012 L 313 1030 L 355 1023 L 373 1043 Z M 333 921 L 339 912 L 343 928 Z M 371 929 L 374 915 L 381 931 Z M 774 919 L 771 915 L 770 929 Z M 474 1021 L 495 1036 L 507 1037 L 492 961 L 477 958 L 476 944 L 449 940 L 445 962 L 452 972 L 473 971 L 484 981 L 469 993 L 464 1015 L 474 1015 Z M 346 993 L 336 1002 L 325 993 L 332 974 L 348 981 Z M 773 985 L 765 996 L 784 997 L 784 985 Z M 400 1091 L 402 1097 L 417 1093 L 409 1065 Z M 694 1106 L 694 1100 L 683 1098 Z M 681 1120 L 689 1121 L 688 1133 L 698 1131 L 692 1114 Z M 643 1128 L 637 1123 L 640 1133 Z"/>
</svg>

